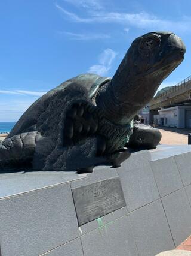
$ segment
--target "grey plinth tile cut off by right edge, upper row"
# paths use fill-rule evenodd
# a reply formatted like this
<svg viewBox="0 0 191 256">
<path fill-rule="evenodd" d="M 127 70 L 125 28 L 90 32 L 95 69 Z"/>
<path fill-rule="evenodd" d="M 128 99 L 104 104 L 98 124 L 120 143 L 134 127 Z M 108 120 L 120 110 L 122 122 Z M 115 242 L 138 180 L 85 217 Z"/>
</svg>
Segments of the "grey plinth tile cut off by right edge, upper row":
<svg viewBox="0 0 191 256">
<path fill-rule="evenodd" d="M 191 184 L 191 152 L 174 156 L 184 186 Z"/>
</svg>

